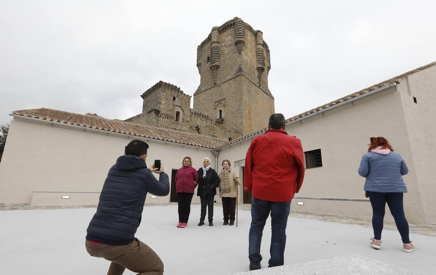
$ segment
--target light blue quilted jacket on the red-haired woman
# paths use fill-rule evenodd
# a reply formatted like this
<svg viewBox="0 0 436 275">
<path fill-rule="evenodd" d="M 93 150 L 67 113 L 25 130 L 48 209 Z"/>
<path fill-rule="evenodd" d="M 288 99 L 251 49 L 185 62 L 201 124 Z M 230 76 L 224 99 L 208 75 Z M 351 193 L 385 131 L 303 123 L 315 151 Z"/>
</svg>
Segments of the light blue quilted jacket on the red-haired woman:
<svg viewBox="0 0 436 275">
<path fill-rule="evenodd" d="M 362 156 L 359 175 L 366 178 L 364 190 L 381 193 L 406 193 L 403 175 L 409 169 L 403 158 L 396 152 L 379 154 L 368 152 Z"/>
</svg>

